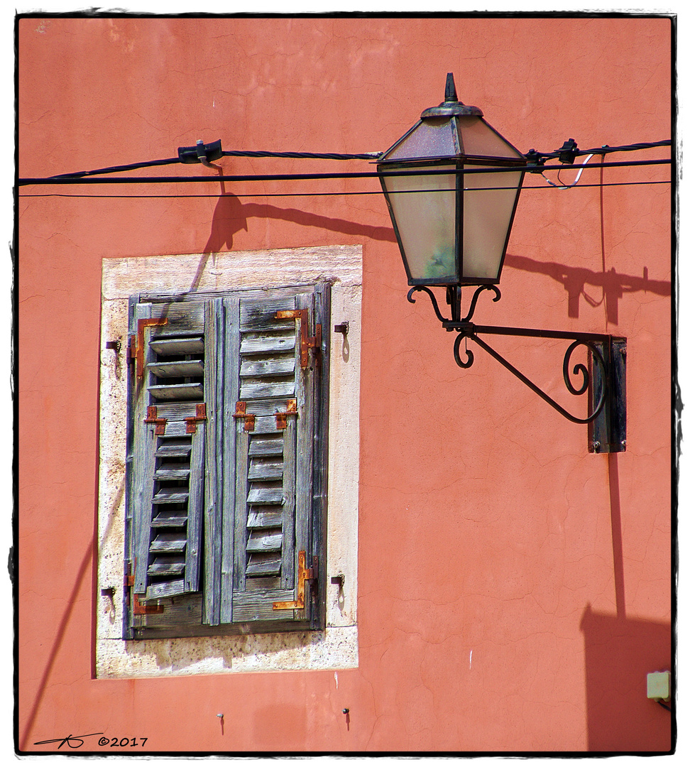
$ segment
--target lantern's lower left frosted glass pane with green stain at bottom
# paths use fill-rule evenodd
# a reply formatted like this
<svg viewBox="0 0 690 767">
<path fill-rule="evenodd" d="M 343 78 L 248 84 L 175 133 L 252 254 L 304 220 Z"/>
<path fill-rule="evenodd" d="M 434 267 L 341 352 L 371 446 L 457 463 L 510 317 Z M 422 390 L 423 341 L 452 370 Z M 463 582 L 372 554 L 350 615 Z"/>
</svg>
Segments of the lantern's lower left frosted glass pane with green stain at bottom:
<svg viewBox="0 0 690 767">
<path fill-rule="evenodd" d="M 455 170 L 455 166 L 451 167 Z M 426 166 L 426 170 L 448 168 L 447 165 Z M 442 173 L 438 176 L 386 176 L 384 183 L 409 270 L 409 279 L 429 281 L 436 285 L 457 282 L 455 173 Z M 428 191 L 416 191 L 418 189 Z"/>
</svg>

